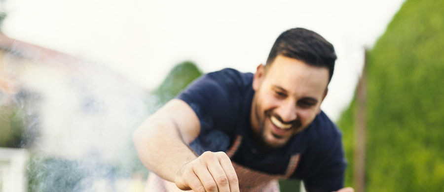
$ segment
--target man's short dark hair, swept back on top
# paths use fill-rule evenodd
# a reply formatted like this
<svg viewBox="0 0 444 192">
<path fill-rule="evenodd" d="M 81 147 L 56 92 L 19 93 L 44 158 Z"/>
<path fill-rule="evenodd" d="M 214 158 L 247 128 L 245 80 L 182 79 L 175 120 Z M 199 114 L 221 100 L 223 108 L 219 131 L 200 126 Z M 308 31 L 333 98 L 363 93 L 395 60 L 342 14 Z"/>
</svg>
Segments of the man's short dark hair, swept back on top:
<svg viewBox="0 0 444 192">
<path fill-rule="evenodd" d="M 306 64 L 329 69 L 329 82 L 332 80 L 336 54 L 333 45 L 316 32 L 303 28 L 290 29 L 283 32 L 274 42 L 268 55 L 266 65 L 282 55 L 301 60 Z"/>
</svg>

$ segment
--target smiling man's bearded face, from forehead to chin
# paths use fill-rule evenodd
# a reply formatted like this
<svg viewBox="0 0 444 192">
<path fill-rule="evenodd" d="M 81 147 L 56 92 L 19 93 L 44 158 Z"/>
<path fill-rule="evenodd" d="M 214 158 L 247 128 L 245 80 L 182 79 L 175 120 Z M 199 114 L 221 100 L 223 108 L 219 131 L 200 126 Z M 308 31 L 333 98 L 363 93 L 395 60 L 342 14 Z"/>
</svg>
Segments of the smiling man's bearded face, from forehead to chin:
<svg viewBox="0 0 444 192">
<path fill-rule="evenodd" d="M 259 144 L 279 148 L 307 128 L 321 110 L 328 82 L 327 67 L 280 55 L 267 68 L 259 65 L 253 79 L 256 93 L 251 113 Z"/>
</svg>

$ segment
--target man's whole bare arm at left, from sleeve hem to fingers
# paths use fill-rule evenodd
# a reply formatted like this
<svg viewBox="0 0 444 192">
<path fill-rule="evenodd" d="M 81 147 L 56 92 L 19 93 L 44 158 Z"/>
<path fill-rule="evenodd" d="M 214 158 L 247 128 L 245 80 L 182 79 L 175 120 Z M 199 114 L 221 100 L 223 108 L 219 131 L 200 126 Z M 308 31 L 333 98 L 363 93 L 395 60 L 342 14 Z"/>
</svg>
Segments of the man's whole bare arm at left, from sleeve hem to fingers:
<svg viewBox="0 0 444 192">
<path fill-rule="evenodd" d="M 188 148 L 199 132 L 191 107 L 173 99 L 137 128 L 133 140 L 144 165 L 182 190 L 238 192 L 236 173 L 224 153 L 197 157 Z"/>
</svg>

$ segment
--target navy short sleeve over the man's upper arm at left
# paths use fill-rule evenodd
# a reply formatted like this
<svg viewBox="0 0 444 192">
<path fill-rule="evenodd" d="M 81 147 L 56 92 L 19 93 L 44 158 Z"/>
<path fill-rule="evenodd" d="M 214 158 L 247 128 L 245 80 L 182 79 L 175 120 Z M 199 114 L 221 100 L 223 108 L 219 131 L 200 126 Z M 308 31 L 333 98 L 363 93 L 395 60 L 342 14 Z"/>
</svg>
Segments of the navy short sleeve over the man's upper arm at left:
<svg viewBox="0 0 444 192">
<path fill-rule="evenodd" d="M 230 132 L 240 118 L 244 92 L 249 88 L 248 76 L 253 78 L 228 68 L 208 73 L 192 82 L 177 98 L 194 110 L 201 132 L 210 129 Z"/>
</svg>

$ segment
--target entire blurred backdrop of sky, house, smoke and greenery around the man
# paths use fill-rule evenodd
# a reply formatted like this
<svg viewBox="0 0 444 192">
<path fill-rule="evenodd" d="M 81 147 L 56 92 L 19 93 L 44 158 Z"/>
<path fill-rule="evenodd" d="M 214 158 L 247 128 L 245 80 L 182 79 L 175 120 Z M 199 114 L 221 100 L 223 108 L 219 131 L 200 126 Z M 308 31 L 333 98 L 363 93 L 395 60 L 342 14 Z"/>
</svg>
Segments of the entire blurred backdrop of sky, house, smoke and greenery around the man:
<svg viewBox="0 0 444 192">
<path fill-rule="evenodd" d="M 0 0 L 0 12 L 1 192 L 141 191 L 132 131 L 202 73 L 255 72 L 294 27 L 338 56 L 321 108 L 343 131 L 345 185 L 444 191 L 441 0 Z"/>
</svg>

